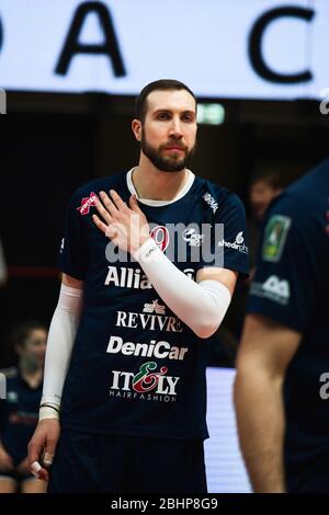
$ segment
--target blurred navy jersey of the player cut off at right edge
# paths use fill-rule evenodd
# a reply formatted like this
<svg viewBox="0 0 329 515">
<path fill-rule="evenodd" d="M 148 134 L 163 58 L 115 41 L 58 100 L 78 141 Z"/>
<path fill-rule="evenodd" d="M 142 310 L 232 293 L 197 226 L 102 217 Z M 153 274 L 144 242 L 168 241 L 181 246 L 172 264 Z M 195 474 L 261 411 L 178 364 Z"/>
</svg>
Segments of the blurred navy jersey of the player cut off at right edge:
<svg viewBox="0 0 329 515">
<path fill-rule="evenodd" d="M 303 334 L 285 380 L 287 483 L 329 466 L 329 160 L 270 208 L 249 312 Z M 264 342 L 264 345 L 266 343 Z"/>
</svg>

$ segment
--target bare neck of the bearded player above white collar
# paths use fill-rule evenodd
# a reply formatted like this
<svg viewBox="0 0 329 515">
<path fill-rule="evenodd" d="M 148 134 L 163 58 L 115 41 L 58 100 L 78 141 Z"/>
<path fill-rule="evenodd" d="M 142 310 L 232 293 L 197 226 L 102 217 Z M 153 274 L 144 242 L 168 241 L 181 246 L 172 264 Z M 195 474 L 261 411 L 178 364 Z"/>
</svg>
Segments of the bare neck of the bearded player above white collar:
<svg viewBox="0 0 329 515">
<path fill-rule="evenodd" d="M 132 180 L 139 198 L 172 201 L 184 187 L 189 172 L 162 172 L 152 164 L 139 162 L 133 170 Z"/>
</svg>

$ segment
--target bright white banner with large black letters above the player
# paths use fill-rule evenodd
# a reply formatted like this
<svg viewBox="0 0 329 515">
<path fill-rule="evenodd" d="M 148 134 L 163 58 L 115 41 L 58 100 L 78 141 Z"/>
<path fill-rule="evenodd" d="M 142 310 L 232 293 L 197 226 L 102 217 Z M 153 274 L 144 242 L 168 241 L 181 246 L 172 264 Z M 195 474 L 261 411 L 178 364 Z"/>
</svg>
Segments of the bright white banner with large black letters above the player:
<svg viewBox="0 0 329 515">
<path fill-rule="evenodd" d="M 327 0 L 1 0 L 0 87 L 136 94 L 175 78 L 200 96 L 318 98 Z"/>
</svg>

